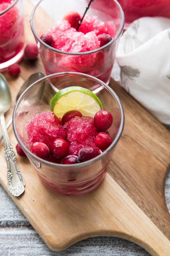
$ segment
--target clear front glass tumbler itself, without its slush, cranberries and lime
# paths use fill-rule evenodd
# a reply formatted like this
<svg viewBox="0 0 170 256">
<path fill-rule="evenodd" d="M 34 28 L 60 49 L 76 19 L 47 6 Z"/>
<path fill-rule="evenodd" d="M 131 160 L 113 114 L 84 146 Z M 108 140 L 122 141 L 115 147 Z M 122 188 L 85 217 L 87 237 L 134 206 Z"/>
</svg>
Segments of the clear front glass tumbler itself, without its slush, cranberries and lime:
<svg viewBox="0 0 170 256">
<path fill-rule="evenodd" d="M 50 100 L 54 94 L 69 86 L 81 86 L 95 92 L 103 109 L 113 115 L 113 124 L 108 131 L 114 140 L 102 154 L 91 160 L 78 164 L 55 164 L 31 153 L 27 146 L 26 127 L 33 115 L 51 111 Z M 75 196 L 93 190 L 105 177 L 123 131 L 124 112 L 118 96 L 107 84 L 89 75 L 65 72 L 46 76 L 23 92 L 14 108 L 13 127 L 19 144 L 42 182 L 60 195 Z"/>
</svg>

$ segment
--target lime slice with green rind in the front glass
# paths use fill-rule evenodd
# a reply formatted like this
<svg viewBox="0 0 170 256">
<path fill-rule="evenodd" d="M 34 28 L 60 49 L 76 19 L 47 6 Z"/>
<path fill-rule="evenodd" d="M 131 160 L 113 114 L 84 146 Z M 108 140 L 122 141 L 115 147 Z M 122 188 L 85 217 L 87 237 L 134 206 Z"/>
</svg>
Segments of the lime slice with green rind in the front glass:
<svg viewBox="0 0 170 256">
<path fill-rule="evenodd" d="M 71 86 L 57 92 L 50 102 L 51 110 L 59 118 L 70 110 L 77 110 L 82 115 L 94 117 L 103 109 L 97 96 L 86 88 Z"/>
</svg>

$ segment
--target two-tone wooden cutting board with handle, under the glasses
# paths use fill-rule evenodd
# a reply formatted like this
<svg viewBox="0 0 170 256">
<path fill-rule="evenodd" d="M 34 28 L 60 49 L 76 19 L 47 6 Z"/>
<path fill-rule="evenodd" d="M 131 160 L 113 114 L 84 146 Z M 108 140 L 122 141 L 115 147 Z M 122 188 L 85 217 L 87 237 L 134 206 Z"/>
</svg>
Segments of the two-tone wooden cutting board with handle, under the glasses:
<svg viewBox="0 0 170 256">
<path fill-rule="evenodd" d="M 32 9 L 29 1 L 25 1 L 27 42 L 34 41 L 29 25 Z M 7 121 L 24 80 L 43 71 L 40 58 L 35 62 L 23 59 L 20 67 L 17 79 L 4 73 L 13 100 Z M 170 133 L 114 80 L 110 86 L 122 102 L 125 127 L 101 185 L 79 197 L 56 195 L 41 183 L 29 161 L 17 156 L 25 192 L 20 198 L 9 195 L 52 250 L 64 250 L 88 237 L 116 236 L 139 244 L 152 255 L 169 256 L 170 215 L 164 186 L 170 163 Z M 15 147 L 12 126 L 8 131 Z M 3 142 L 0 163 L 0 182 L 7 191 Z"/>
</svg>

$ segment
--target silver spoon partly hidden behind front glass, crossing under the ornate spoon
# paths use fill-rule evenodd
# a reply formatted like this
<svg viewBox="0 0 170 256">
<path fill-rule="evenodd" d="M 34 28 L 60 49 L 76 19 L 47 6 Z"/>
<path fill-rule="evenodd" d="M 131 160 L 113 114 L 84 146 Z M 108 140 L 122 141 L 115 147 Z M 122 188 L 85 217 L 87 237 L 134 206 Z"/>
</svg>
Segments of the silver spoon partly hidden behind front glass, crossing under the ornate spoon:
<svg viewBox="0 0 170 256">
<path fill-rule="evenodd" d="M 25 80 L 25 82 L 23 83 L 23 85 L 21 86 L 17 96 L 16 96 L 16 100 L 15 103 L 17 102 L 17 100 L 19 99 L 19 97 L 21 96 L 21 94 L 25 91 L 25 89 L 27 89 L 28 86 L 30 86 L 31 84 L 33 84 L 34 82 L 36 82 L 37 80 L 41 79 L 42 77 L 44 77 L 44 74 L 41 72 L 38 73 L 34 73 L 31 76 L 28 77 L 27 80 Z M 6 128 L 8 129 L 10 127 L 10 125 L 12 124 L 12 118 L 8 121 Z M 2 141 L 3 138 L 3 133 L 0 133 L 0 143 Z"/>
</svg>

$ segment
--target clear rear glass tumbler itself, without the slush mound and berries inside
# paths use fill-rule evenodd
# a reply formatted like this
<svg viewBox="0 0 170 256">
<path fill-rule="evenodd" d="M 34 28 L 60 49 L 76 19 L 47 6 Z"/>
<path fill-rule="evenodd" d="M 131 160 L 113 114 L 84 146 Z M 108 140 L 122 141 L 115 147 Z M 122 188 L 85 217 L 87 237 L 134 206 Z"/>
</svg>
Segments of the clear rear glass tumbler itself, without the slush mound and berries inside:
<svg viewBox="0 0 170 256">
<path fill-rule="evenodd" d="M 94 1 L 87 12 L 87 15 L 97 16 L 101 21 L 114 21 L 116 36 L 105 46 L 92 51 L 71 53 L 54 49 L 40 39 L 42 34 L 62 20 L 67 11 L 77 11 L 82 15 L 87 3 L 87 0 L 41 0 L 31 14 L 31 29 L 47 75 L 65 71 L 80 72 L 97 77 L 108 84 L 124 27 L 124 13 L 116 0 L 107 0 L 107 4 L 104 0 Z M 46 11 L 43 11 L 43 8 Z M 40 18 L 42 16 L 43 19 Z M 89 61 L 90 59 L 92 61 Z"/>
</svg>

